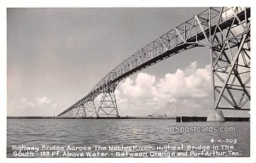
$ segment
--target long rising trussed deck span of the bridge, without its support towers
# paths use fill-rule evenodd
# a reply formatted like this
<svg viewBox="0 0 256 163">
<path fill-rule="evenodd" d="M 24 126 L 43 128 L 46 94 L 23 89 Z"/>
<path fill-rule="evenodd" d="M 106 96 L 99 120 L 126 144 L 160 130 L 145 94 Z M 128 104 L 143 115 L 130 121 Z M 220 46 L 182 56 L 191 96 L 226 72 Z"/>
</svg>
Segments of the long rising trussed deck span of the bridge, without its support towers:
<svg viewBox="0 0 256 163">
<path fill-rule="evenodd" d="M 233 38 L 244 35 L 250 30 L 246 26 L 249 20 L 250 8 L 207 8 L 190 20 L 177 25 L 171 31 L 155 39 L 154 42 L 150 42 L 128 59 L 125 59 L 124 62 L 111 70 L 107 76 L 104 76 L 91 89 L 90 93 L 79 99 L 78 102 L 58 116 L 65 115 L 69 111 L 73 111 L 87 102 L 93 101 L 101 93 L 113 93 L 115 87 L 125 77 L 131 76 L 137 71 L 154 65 L 160 62 L 160 60 L 167 59 L 183 50 L 195 47 L 217 47 L 221 42 L 231 39 L 226 37 L 226 40 L 220 41 L 217 38 L 218 33 L 224 35 L 224 30 L 230 32 L 229 29 L 233 28 L 233 26 L 240 25 L 244 28 L 236 36 L 233 34 Z M 238 46 L 238 43 L 234 46 Z"/>
</svg>

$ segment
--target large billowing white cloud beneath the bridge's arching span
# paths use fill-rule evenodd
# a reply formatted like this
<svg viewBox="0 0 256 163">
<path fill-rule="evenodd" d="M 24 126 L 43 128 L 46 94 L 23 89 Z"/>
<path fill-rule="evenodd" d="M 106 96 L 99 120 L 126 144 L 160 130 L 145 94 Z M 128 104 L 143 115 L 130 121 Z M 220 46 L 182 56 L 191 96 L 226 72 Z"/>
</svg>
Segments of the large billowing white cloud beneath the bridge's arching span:
<svg viewBox="0 0 256 163">
<path fill-rule="evenodd" d="M 186 69 L 156 79 L 139 73 L 125 79 L 116 90 L 121 115 L 207 115 L 212 109 L 210 65 Z"/>
</svg>

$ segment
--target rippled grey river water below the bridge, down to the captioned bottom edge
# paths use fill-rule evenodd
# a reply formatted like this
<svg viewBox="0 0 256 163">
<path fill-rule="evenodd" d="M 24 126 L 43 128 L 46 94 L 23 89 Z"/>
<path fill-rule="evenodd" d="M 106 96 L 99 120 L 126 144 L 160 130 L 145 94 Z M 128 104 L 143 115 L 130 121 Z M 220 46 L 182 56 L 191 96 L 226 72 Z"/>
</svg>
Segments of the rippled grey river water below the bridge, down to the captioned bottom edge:
<svg viewBox="0 0 256 163">
<path fill-rule="evenodd" d="M 195 130 L 195 127 L 197 130 Z M 214 131 L 211 129 L 215 128 Z M 176 129 L 176 131 L 172 131 Z M 222 129 L 222 130 L 221 130 Z M 184 130 L 184 131 L 181 131 Z M 225 130 L 225 132 L 224 132 Z M 108 155 L 94 157 L 133 157 L 134 153 L 143 152 L 145 155 L 136 157 L 172 157 L 170 155 L 151 155 L 150 152 L 166 152 L 157 147 L 168 145 L 177 147 L 171 149 L 175 152 L 195 151 L 201 153 L 203 146 L 218 146 L 218 152 L 225 151 L 228 155 L 188 155 L 189 157 L 201 156 L 250 156 L 250 123 L 249 122 L 183 122 L 174 120 L 153 119 L 8 119 L 7 120 L 7 157 L 56 157 L 39 153 L 42 145 L 46 147 L 83 147 L 91 148 L 96 152 L 97 146 Z M 187 149 L 193 146 L 195 149 Z M 224 145 L 224 146 L 221 146 Z M 17 155 L 16 147 L 38 147 L 38 155 Z M 130 150 L 129 155 L 116 155 L 122 150 L 109 150 L 113 147 L 147 146 L 149 149 Z M 183 146 L 183 149 L 178 147 Z M 223 149 L 224 148 L 224 149 Z M 228 149 L 227 149 L 228 148 Z M 83 149 L 84 150 L 84 149 Z M 85 149 L 86 150 L 86 149 Z M 25 150 L 26 151 L 26 150 Z M 49 149 L 51 152 L 52 150 Z M 167 152 L 172 152 L 168 151 Z M 205 150 L 206 151 L 206 150 Z M 210 149 L 209 151 L 213 151 Z M 229 152 L 230 151 L 230 152 Z M 85 151 L 83 151 L 85 152 Z M 76 153 L 76 151 L 74 152 Z M 79 152 L 77 152 L 79 153 Z M 46 155 L 44 155 L 46 154 Z M 63 154 L 63 151 L 61 151 Z M 161 153 L 160 153 L 161 154 Z M 216 154 L 216 153 L 215 153 Z M 88 157 L 76 155 L 58 155 L 58 157 Z M 173 157 L 179 157 L 175 155 Z M 182 155 L 186 156 L 186 155 Z"/>
</svg>

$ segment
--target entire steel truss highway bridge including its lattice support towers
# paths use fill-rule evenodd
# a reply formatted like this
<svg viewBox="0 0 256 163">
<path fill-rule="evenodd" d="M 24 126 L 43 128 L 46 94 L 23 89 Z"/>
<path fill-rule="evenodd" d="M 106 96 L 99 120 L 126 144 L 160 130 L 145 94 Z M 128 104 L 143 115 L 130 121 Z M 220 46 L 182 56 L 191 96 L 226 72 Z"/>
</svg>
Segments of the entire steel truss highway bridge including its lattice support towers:
<svg viewBox="0 0 256 163">
<path fill-rule="evenodd" d="M 125 59 L 58 116 L 119 116 L 114 90 L 121 80 L 195 47 L 209 48 L 214 109 L 250 110 L 250 11 L 240 7 L 207 8 Z M 96 108 L 94 100 L 101 93 Z"/>
</svg>

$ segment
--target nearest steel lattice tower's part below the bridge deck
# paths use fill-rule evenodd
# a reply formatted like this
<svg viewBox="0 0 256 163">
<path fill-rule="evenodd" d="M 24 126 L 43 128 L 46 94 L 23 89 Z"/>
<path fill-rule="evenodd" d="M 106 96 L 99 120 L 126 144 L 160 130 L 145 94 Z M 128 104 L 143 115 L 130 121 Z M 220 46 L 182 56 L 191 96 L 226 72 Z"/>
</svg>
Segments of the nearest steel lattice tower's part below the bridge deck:
<svg viewBox="0 0 256 163">
<path fill-rule="evenodd" d="M 249 110 L 250 31 L 236 37 L 237 45 L 233 48 L 230 48 L 231 41 L 218 45 L 217 53 L 212 47 L 215 109 Z"/>
</svg>

